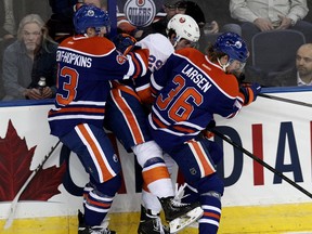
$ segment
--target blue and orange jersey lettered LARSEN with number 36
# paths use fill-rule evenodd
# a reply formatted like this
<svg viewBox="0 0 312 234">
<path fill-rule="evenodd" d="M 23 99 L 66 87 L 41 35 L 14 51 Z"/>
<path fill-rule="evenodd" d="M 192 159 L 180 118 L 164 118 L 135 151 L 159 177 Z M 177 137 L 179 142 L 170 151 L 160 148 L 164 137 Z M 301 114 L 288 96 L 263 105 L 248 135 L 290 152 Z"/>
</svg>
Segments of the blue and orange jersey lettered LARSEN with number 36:
<svg viewBox="0 0 312 234">
<path fill-rule="evenodd" d="M 244 103 L 235 76 L 192 48 L 176 51 L 154 73 L 151 84 L 157 100 L 148 122 L 164 150 L 194 139 L 213 114 L 234 117 Z"/>
</svg>

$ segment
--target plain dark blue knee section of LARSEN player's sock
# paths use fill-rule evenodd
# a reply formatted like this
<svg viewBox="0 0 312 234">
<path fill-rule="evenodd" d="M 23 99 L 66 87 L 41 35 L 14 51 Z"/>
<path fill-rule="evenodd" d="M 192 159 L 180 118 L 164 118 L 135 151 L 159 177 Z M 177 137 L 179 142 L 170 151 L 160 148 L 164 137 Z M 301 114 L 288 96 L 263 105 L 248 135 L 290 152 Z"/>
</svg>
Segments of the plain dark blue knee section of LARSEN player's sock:
<svg viewBox="0 0 312 234">
<path fill-rule="evenodd" d="M 221 178 L 214 172 L 197 181 L 196 188 L 200 196 L 202 195 L 218 196 L 217 194 L 220 194 L 220 197 L 221 197 L 223 196 L 223 192 L 224 192 L 224 183 L 221 180 Z"/>
</svg>

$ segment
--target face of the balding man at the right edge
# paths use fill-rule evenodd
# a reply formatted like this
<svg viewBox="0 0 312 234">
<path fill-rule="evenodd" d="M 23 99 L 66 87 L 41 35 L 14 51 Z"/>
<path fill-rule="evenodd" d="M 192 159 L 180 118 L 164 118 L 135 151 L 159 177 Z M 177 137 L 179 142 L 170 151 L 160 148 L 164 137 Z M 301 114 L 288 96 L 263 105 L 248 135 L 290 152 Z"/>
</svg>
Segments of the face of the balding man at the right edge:
<svg viewBox="0 0 312 234">
<path fill-rule="evenodd" d="M 296 56 L 296 66 L 300 76 L 312 75 L 312 48 L 301 47 Z"/>
</svg>

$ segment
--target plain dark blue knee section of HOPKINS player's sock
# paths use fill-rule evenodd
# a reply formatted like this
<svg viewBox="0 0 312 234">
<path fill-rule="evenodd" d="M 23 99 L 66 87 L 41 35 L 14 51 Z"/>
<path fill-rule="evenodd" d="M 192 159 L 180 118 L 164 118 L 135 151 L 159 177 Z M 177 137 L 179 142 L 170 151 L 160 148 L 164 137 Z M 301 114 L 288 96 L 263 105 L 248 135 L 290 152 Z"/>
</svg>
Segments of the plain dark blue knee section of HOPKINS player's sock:
<svg viewBox="0 0 312 234">
<path fill-rule="evenodd" d="M 105 181 L 104 183 L 94 183 L 93 181 L 91 182 L 94 188 L 101 194 L 113 197 L 121 186 L 121 176 L 120 173 L 118 173 L 116 177 L 112 178 L 108 181 Z"/>
</svg>

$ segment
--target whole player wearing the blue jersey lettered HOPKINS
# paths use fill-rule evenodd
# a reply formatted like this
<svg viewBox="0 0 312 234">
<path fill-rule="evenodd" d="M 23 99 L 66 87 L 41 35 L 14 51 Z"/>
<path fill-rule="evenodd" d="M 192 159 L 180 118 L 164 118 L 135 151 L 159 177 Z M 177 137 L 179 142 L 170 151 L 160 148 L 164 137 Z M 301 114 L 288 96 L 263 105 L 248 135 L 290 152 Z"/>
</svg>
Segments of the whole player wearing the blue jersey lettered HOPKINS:
<svg viewBox="0 0 312 234">
<path fill-rule="evenodd" d="M 109 80 L 144 76 L 148 51 L 118 52 L 104 37 L 108 14 L 93 5 L 81 6 L 74 25 L 77 35 L 57 49 L 57 93 L 48 120 L 51 134 L 78 155 L 90 176 L 78 233 L 114 234 L 102 223 L 121 184 L 120 161 L 103 129 Z"/>
</svg>

